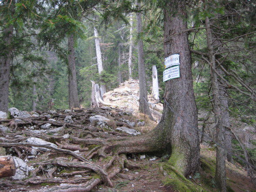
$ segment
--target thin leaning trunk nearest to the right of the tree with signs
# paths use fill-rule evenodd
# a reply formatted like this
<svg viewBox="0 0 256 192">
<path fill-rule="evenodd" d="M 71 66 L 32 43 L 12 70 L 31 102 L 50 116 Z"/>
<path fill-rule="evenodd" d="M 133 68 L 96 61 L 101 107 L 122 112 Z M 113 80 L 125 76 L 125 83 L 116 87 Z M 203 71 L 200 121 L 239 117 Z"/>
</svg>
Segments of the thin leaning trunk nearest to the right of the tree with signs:
<svg viewBox="0 0 256 192">
<path fill-rule="evenodd" d="M 213 112 L 216 123 L 216 140 L 222 146 L 225 146 L 225 128 L 222 122 L 221 101 L 219 96 L 219 85 L 216 70 L 216 58 L 212 43 L 212 31 L 209 17 L 205 18 L 206 37 L 210 55 L 210 68 L 212 76 L 212 97 L 213 97 Z M 226 151 L 217 145 L 216 151 L 216 173 L 215 180 L 221 192 L 226 192 Z"/>
</svg>

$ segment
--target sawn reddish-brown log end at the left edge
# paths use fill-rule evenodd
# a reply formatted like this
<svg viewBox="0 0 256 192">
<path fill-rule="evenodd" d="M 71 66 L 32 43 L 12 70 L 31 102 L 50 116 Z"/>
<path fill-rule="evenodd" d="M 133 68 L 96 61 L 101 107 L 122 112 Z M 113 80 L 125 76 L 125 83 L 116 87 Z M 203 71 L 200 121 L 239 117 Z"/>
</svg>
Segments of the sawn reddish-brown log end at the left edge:
<svg viewBox="0 0 256 192">
<path fill-rule="evenodd" d="M 0 156 L 0 178 L 14 176 L 16 173 L 16 166 L 13 157 Z"/>
</svg>

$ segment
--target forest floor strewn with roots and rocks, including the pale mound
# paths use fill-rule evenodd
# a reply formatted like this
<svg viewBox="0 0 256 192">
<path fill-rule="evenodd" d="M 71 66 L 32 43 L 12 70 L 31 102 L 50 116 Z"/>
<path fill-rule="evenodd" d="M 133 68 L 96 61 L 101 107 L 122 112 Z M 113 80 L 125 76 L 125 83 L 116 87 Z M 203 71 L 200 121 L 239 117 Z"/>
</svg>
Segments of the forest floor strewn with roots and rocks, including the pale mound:
<svg viewBox="0 0 256 192">
<path fill-rule="evenodd" d="M 12 155 L 24 162 L 23 167 L 20 165 L 23 174 L 20 179 L 0 179 L 0 192 L 50 192 L 71 185 L 91 187 L 95 183 L 98 184 L 91 187 L 92 192 L 176 192 L 174 186 L 163 182 L 166 175 L 161 167 L 168 157 L 151 154 L 116 157 L 100 149 L 104 139 L 136 137 L 157 125 L 138 112 L 138 81 L 126 81 L 109 91 L 104 94 L 104 101 L 116 107 L 34 111 L 29 113 L 30 117 L 0 119 L 0 156 Z M 149 101 L 155 102 L 150 97 Z M 161 118 L 162 108 L 161 103 L 151 106 L 156 121 Z M 134 131 L 127 133 L 116 129 L 123 127 Z M 214 162 L 216 151 L 201 145 L 201 155 Z M 119 167 L 112 168 L 112 163 Z M 226 165 L 227 182 L 234 192 L 256 192 L 241 165 L 229 162 Z M 104 174 L 110 169 L 108 178 Z M 105 183 L 98 175 L 106 177 Z M 213 175 L 201 169 L 191 181 L 209 192 L 217 192 L 214 183 L 209 183 L 212 188 L 204 186 L 203 177 L 209 182 L 213 180 Z"/>
</svg>

